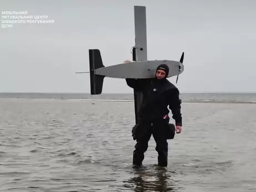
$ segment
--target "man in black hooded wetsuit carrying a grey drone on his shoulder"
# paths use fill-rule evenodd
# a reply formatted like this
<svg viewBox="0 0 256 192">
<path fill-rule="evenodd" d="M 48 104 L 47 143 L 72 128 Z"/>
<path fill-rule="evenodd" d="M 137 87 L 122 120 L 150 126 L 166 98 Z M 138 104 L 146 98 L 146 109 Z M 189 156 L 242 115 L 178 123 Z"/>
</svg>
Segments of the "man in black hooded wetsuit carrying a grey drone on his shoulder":
<svg viewBox="0 0 256 192">
<path fill-rule="evenodd" d="M 129 60 L 124 61 L 129 63 Z M 132 164 L 141 165 L 144 160 L 144 153 L 147 151 L 151 135 L 156 142 L 156 151 L 158 152 L 158 165 L 166 167 L 168 163 L 168 143 L 167 139 L 172 139 L 176 133 L 181 133 L 182 116 L 180 92 L 166 78 L 169 68 L 165 64 L 157 67 L 156 76 L 152 79 L 126 79 L 129 87 L 135 91 L 141 91 L 143 100 L 141 108 L 136 114 L 139 117 L 139 123 L 133 128 L 132 133 L 136 139 L 135 151 Z M 172 111 L 172 118 L 175 125 L 170 124 L 168 117 L 168 107 Z M 171 127 L 174 129 L 172 133 Z M 171 137 L 168 134 L 172 134 Z"/>
</svg>

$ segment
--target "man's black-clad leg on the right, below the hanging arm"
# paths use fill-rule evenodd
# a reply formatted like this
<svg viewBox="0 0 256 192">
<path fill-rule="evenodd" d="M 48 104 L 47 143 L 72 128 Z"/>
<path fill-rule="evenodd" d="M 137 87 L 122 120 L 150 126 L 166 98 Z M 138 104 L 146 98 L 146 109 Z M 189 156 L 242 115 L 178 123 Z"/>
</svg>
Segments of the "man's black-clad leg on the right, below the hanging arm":
<svg viewBox="0 0 256 192">
<path fill-rule="evenodd" d="M 166 167 L 168 164 L 168 142 L 165 135 L 165 126 L 163 123 L 153 125 L 153 138 L 156 141 L 156 151 L 158 153 L 158 165 Z"/>
</svg>

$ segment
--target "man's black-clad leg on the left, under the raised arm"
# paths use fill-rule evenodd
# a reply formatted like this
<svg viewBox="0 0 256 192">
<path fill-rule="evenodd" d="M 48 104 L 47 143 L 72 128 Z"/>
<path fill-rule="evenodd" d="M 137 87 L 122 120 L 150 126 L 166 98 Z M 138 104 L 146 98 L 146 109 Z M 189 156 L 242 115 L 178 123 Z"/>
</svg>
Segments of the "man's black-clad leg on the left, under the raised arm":
<svg viewBox="0 0 256 192">
<path fill-rule="evenodd" d="M 151 127 L 149 126 L 143 126 L 141 127 L 144 129 L 144 134 L 142 136 L 137 137 L 136 144 L 135 144 L 135 150 L 134 155 L 132 159 L 133 165 L 141 165 L 142 161 L 144 160 L 144 153 L 147 151 L 147 148 L 149 147 L 149 141 L 151 137 Z"/>
</svg>

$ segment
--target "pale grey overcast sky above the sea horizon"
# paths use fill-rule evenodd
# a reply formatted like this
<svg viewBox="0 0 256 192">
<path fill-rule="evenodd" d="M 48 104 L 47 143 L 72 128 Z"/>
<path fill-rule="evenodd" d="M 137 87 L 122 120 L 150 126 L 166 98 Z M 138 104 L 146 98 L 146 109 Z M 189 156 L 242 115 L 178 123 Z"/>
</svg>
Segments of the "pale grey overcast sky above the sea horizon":
<svg viewBox="0 0 256 192">
<path fill-rule="evenodd" d="M 0 92 L 89 92 L 88 49 L 105 66 L 132 59 L 134 6 L 146 6 L 148 60 L 180 60 L 181 92 L 256 92 L 256 1 L 0 0 L 0 11 L 54 24 L 0 28 Z M 169 79 L 175 83 L 176 77 Z M 132 92 L 124 79 L 103 92 Z"/>
</svg>

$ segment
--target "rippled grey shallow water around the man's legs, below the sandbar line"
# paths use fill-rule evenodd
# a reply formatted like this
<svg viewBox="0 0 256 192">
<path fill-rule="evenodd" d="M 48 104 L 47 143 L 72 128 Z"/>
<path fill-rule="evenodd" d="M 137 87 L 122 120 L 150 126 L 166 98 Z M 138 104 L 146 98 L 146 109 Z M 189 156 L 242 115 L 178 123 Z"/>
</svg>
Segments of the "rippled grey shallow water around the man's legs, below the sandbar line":
<svg viewBox="0 0 256 192">
<path fill-rule="evenodd" d="M 132 168 L 132 102 L 0 100 L 0 191 L 256 191 L 256 105 L 183 103 L 158 168 Z"/>
</svg>

